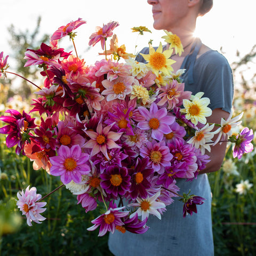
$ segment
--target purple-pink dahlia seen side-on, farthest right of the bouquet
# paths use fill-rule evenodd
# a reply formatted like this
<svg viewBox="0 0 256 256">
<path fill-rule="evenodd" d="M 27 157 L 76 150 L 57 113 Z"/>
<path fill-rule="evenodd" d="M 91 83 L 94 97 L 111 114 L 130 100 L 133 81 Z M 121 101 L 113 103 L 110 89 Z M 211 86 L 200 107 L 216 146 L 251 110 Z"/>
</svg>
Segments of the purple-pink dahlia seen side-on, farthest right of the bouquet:
<svg viewBox="0 0 256 256">
<path fill-rule="evenodd" d="M 253 150 L 253 145 L 251 143 L 252 139 L 252 129 L 249 130 L 248 127 L 245 127 L 236 138 L 233 157 L 240 159 L 244 153 L 251 152 Z"/>
</svg>

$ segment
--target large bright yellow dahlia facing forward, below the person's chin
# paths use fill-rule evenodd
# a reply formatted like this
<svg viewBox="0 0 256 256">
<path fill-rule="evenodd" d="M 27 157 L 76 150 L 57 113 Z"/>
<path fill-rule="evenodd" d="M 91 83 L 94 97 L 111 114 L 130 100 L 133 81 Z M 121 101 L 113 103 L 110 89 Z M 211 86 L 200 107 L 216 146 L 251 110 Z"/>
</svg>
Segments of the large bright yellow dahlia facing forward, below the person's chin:
<svg viewBox="0 0 256 256">
<path fill-rule="evenodd" d="M 156 51 L 152 45 L 149 45 L 149 54 L 140 54 L 146 61 L 148 61 L 146 66 L 151 68 L 153 73 L 158 76 L 159 71 L 165 75 L 170 75 L 171 71 L 173 71 L 171 65 L 176 61 L 169 59 L 172 52 L 173 49 L 165 50 L 163 52 L 163 46 L 162 43 L 160 43 Z"/>
</svg>

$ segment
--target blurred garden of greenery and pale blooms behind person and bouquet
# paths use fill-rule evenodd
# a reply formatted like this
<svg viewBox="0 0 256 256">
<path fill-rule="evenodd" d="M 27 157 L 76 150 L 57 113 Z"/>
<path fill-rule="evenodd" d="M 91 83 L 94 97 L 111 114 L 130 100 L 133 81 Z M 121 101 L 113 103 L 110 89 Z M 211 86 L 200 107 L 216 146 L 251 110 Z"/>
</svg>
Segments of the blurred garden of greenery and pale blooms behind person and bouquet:
<svg viewBox="0 0 256 256">
<path fill-rule="evenodd" d="M 12 57 L 9 70 L 37 83 L 42 83 L 38 71 L 32 67 L 23 68 L 23 57 L 27 48 L 38 49 L 41 42 L 48 42 L 49 35 L 42 33 L 41 25 L 39 17 L 30 29 L 17 29 L 11 23 L 8 26 Z M 95 24 L 98 25 L 102 24 Z M 143 24 L 137 26 L 140 25 Z M 51 28 L 51 31 L 57 28 Z M 229 62 L 235 83 L 234 115 L 244 111 L 243 125 L 256 131 L 256 38 L 250 43 L 246 50 L 244 47 L 237 48 Z M 222 47 L 217 50 L 226 54 Z M 89 52 L 89 49 L 86 50 L 84 46 L 84 51 Z M 95 55 L 97 53 L 94 51 Z M 4 52 L 4 55 L 10 54 Z M 20 78 L 1 78 L 0 115 L 7 109 L 28 112 L 31 99 L 35 98 L 34 91 L 29 83 Z M 221 169 L 208 174 L 213 198 L 215 255 L 256 255 L 255 163 L 255 149 L 238 160 L 232 157 L 231 146 L 228 145 Z M 28 185 L 36 186 L 37 193 L 44 196 L 57 188 L 60 181 L 42 169 L 33 170 L 32 162 L 26 157 L 17 156 L 15 148 L 7 148 L 5 136 L 0 134 L 0 255 L 112 255 L 108 251 L 107 236 L 98 237 L 97 231 L 86 230 L 99 213 L 85 213 L 81 205 L 76 205 L 76 196 L 65 188 L 46 198 L 47 210 L 43 215 L 47 220 L 41 225 L 33 223 L 32 227 L 28 227 L 15 201 L 17 192 L 25 190 Z"/>
</svg>

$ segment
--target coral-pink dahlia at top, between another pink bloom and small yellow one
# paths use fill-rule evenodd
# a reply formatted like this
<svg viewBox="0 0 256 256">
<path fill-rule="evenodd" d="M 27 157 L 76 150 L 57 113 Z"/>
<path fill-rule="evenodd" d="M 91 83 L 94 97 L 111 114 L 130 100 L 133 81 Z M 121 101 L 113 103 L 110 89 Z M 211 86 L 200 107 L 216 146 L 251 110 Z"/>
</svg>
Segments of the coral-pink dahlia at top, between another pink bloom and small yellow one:
<svg viewBox="0 0 256 256">
<path fill-rule="evenodd" d="M 108 37 L 113 35 L 113 29 L 119 26 L 117 21 L 111 21 L 107 25 L 103 24 L 103 27 L 96 27 L 96 33 L 93 33 L 90 36 L 89 45 L 94 46 L 98 42 L 101 42 L 102 50 L 105 48 L 105 41 Z"/>
</svg>

